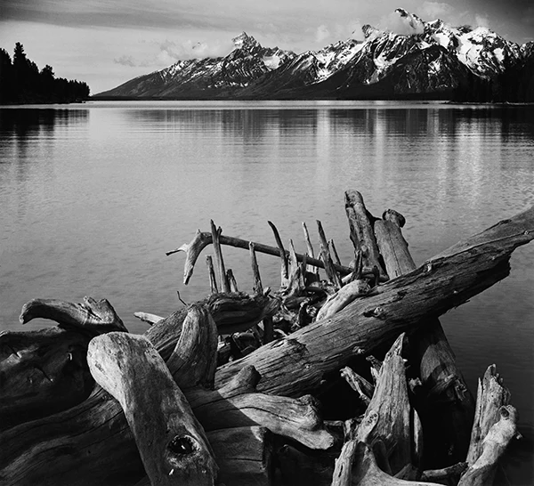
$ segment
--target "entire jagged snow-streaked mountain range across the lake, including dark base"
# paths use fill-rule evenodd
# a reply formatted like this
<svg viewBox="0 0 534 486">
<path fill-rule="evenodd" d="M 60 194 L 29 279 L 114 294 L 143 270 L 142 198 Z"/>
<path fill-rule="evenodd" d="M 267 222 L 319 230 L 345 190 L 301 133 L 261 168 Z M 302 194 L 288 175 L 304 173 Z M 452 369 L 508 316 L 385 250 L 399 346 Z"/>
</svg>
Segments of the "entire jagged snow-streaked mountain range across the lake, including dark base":
<svg viewBox="0 0 534 486">
<path fill-rule="evenodd" d="M 297 54 L 243 32 L 225 57 L 177 61 L 94 98 L 534 101 L 534 42 L 395 12 L 409 34 L 365 25 L 363 41 Z"/>
</svg>

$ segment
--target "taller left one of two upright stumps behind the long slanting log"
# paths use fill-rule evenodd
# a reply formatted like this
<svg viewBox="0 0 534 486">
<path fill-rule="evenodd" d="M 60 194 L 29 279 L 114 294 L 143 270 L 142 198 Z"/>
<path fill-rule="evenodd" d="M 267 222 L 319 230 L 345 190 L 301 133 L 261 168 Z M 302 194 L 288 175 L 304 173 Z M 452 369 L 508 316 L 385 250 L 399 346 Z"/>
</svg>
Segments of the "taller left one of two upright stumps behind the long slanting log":
<svg viewBox="0 0 534 486">
<path fill-rule="evenodd" d="M 380 279 L 382 281 L 387 280 L 387 275 L 380 263 L 380 255 L 373 233 L 372 222 L 375 218 L 369 214 L 360 192 L 346 190 L 344 197 L 352 244 L 355 251 L 361 250 L 364 269 L 371 271 L 376 267 L 379 271 Z"/>
</svg>

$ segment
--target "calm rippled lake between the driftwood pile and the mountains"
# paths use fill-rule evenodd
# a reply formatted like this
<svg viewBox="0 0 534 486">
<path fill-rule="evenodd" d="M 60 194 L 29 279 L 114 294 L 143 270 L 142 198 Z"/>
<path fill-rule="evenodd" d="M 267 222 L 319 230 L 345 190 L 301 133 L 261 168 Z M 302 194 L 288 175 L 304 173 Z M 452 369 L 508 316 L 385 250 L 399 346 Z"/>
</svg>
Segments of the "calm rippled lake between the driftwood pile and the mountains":
<svg viewBox="0 0 534 486">
<path fill-rule="evenodd" d="M 107 298 L 133 332 L 208 293 L 206 249 L 188 286 L 183 254 L 209 231 L 304 253 L 302 222 L 352 243 L 344 190 L 393 208 L 416 263 L 534 204 L 531 106 L 391 102 L 87 102 L 0 109 L 0 328 L 35 297 Z M 312 236 L 316 248 L 317 236 Z M 247 252 L 223 247 L 239 288 Z M 259 258 L 264 285 L 279 263 Z M 503 484 L 534 483 L 534 243 L 510 277 L 441 318 L 476 393 L 491 364 L 512 392 L 522 441 Z M 177 293 L 179 292 L 179 294 Z M 40 328 L 46 321 L 28 324 Z"/>
</svg>

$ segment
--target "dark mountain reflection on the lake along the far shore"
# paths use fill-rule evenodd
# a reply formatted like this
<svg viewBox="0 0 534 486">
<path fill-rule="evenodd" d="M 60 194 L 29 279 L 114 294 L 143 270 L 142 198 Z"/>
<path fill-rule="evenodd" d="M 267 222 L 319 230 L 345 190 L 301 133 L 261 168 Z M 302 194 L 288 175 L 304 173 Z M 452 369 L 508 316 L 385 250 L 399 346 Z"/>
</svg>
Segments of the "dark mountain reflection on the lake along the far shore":
<svg viewBox="0 0 534 486">
<path fill-rule="evenodd" d="M 241 141 L 261 142 L 276 127 L 280 134 L 316 134 L 319 118 L 327 117 L 332 129 L 355 135 L 384 131 L 409 137 L 444 134 L 455 136 L 470 128 L 481 134 L 499 134 L 534 140 L 534 114 L 529 107 L 463 107 L 409 109 L 130 109 L 130 121 L 167 131 L 190 126 L 231 134 Z"/>
</svg>

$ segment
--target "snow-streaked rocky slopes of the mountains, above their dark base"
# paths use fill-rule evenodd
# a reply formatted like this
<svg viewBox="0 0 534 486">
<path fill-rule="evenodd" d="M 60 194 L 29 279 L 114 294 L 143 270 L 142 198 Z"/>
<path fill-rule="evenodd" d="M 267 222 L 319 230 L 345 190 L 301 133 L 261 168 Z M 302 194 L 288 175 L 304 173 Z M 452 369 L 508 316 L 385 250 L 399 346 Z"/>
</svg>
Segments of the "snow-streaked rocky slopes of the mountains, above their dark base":
<svg viewBox="0 0 534 486">
<path fill-rule="evenodd" d="M 395 14 L 395 32 L 365 25 L 364 41 L 349 38 L 301 54 L 263 47 L 243 32 L 233 38 L 235 48 L 225 57 L 177 61 L 105 94 L 269 97 L 299 89 L 310 93 L 313 85 L 324 87 L 327 82 L 330 91 L 384 85 L 382 81 L 389 78 L 395 79 L 399 90 L 411 93 L 441 89 L 448 83 L 455 88 L 460 83 L 455 77 L 464 85 L 473 85 L 469 73 L 490 80 L 521 64 L 534 51 L 532 45 L 519 46 L 488 28 L 451 27 L 442 20 L 422 20 L 401 8 Z"/>
</svg>

